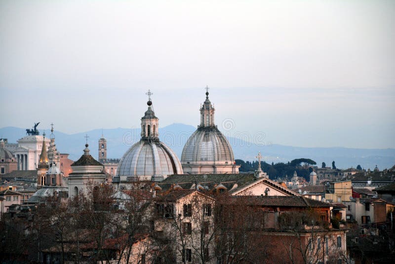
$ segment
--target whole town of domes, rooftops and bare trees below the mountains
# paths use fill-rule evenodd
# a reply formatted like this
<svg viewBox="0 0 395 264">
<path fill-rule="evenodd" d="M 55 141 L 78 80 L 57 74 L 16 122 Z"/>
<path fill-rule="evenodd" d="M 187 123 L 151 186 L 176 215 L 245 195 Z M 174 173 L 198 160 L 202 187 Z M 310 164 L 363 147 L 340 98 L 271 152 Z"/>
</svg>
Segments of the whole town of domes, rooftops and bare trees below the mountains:
<svg viewBox="0 0 395 264">
<path fill-rule="evenodd" d="M 86 135 L 69 159 L 54 124 L 49 136 L 35 123 L 0 139 L 0 263 L 393 263 L 395 163 L 300 157 L 274 177 L 259 152 L 248 167 L 218 129 L 208 87 L 179 159 L 159 140 L 152 94 L 145 112 L 135 102 L 141 139 L 120 158 L 107 157 L 104 135 L 97 146 Z"/>
</svg>

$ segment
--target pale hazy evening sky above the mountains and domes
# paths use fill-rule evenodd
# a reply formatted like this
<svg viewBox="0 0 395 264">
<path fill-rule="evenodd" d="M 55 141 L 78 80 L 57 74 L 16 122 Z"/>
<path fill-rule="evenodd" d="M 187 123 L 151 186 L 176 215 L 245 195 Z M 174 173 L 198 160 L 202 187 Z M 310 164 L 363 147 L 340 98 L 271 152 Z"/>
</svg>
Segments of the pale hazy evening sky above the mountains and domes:
<svg viewBox="0 0 395 264">
<path fill-rule="evenodd" d="M 395 148 L 395 1 L 0 0 L 0 127 L 197 126 Z M 227 127 L 224 127 L 227 126 Z"/>
</svg>

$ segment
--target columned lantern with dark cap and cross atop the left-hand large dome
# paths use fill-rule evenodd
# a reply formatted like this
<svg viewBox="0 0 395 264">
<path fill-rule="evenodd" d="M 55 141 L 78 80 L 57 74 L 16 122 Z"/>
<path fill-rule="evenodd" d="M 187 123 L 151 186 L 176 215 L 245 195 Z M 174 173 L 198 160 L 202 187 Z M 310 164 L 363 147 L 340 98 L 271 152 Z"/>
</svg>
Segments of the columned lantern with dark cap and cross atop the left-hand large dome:
<svg viewBox="0 0 395 264">
<path fill-rule="evenodd" d="M 151 95 L 154 93 L 151 90 L 146 92 L 148 95 L 148 110 L 145 112 L 144 116 L 141 118 L 141 139 L 142 140 L 159 140 L 158 136 L 158 124 L 159 119 L 155 116 L 155 112 L 152 108 Z"/>
</svg>

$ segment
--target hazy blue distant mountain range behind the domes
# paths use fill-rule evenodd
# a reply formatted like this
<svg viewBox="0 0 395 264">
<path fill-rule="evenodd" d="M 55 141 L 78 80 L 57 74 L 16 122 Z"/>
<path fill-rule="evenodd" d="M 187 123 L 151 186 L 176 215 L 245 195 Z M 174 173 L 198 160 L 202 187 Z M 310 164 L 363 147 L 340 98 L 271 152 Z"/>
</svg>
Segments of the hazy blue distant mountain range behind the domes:
<svg viewBox="0 0 395 264">
<path fill-rule="evenodd" d="M 170 146 L 174 152 L 181 157 L 181 152 L 189 136 L 196 130 L 196 127 L 184 124 L 172 124 L 159 129 L 159 137 L 162 142 Z M 50 130 L 45 130 L 49 132 Z M 40 130 L 40 134 L 42 134 Z M 72 160 L 77 160 L 82 155 L 85 138 L 88 134 L 90 153 L 98 158 L 98 140 L 102 135 L 101 129 L 80 132 L 76 134 L 66 134 L 55 131 L 55 143 L 61 153 L 69 153 Z M 15 127 L 5 127 L 0 129 L 0 135 L 7 138 L 9 143 L 16 143 L 16 140 L 26 135 L 25 129 Z M 107 158 L 121 158 L 126 150 L 140 140 L 139 129 L 105 129 L 103 135 L 107 139 Z M 49 137 L 49 133 L 46 134 Z M 257 145 L 244 141 L 237 137 L 228 137 L 232 145 L 235 159 L 256 160 L 258 151 L 264 156 L 268 163 L 288 162 L 296 158 L 309 158 L 316 161 L 318 166 L 322 162 L 326 166 L 331 166 L 334 160 L 337 168 L 356 167 L 358 164 L 362 168 L 373 169 L 376 165 L 379 169 L 391 168 L 395 164 L 395 149 L 357 149 L 345 147 L 293 147 L 283 145 Z"/>
</svg>

